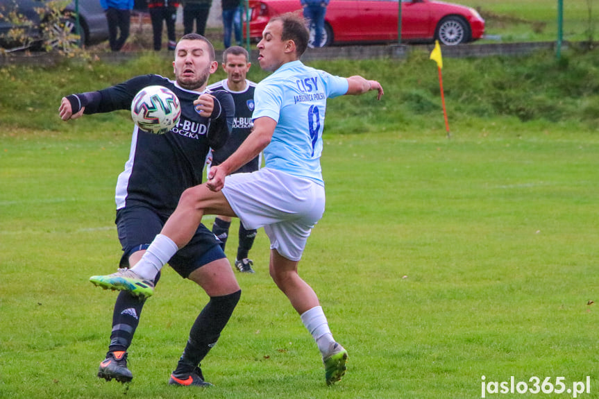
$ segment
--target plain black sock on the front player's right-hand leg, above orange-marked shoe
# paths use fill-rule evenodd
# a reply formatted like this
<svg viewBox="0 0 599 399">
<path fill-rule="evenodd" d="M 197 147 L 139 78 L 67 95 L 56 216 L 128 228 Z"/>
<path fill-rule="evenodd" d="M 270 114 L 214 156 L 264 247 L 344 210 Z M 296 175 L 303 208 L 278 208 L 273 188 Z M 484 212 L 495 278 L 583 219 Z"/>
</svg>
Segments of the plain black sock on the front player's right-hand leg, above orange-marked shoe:
<svg viewBox="0 0 599 399">
<path fill-rule="evenodd" d="M 199 366 L 210 348 L 216 345 L 241 295 L 240 289 L 233 294 L 210 297 L 189 331 L 187 345 L 173 374 L 187 375 Z"/>
</svg>

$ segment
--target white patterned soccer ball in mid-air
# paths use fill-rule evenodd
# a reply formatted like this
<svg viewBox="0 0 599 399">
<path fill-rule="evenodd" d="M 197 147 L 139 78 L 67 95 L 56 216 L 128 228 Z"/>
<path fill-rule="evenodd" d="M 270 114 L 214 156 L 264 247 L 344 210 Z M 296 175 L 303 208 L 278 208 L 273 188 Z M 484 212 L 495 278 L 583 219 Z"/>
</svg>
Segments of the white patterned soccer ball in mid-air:
<svg viewBox="0 0 599 399">
<path fill-rule="evenodd" d="M 131 103 L 131 117 L 142 130 L 163 135 L 174 128 L 181 116 L 179 99 L 164 86 L 144 87 Z"/>
</svg>

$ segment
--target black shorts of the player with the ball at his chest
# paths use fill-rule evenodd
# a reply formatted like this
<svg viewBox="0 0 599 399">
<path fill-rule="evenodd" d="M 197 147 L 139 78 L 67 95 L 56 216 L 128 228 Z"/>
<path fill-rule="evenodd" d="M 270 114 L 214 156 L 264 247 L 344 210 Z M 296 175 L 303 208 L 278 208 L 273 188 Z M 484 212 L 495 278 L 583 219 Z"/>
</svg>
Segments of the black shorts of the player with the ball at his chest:
<svg viewBox="0 0 599 399">
<path fill-rule="evenodd" d="M 143 204 L 127 205 L 117 210 L 117 230 L 123 247 L 120 267 L 128 266 L 129 256 L 148 248 L 154 237 L 160 233 L 169 214 L 161 214 Z M 225 256 L 221 241 L 206 226 L 201 224 L 189 243 L 169 260 L 169 265 L 187 278 L 192 271 Z"/>
</svg>

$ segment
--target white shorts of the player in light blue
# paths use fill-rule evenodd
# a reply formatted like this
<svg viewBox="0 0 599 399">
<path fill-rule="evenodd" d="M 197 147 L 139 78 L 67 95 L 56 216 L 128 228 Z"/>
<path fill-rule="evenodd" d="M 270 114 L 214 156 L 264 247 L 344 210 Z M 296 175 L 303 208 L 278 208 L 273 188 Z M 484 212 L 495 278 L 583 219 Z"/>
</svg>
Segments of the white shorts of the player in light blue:
<svg viewBox="0 0 599 399">
<path fill-rule="evenodd" d="M 235 173 L 225 178 L 223 194 L 244 228 L 264 227 L 271 249 L 300 260 L 307 237 L 324 213 L 324 187 L 275 169 Z"/>
</svg>

